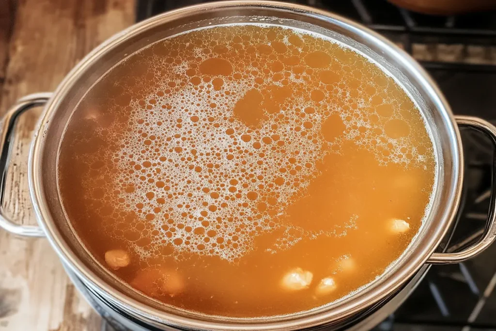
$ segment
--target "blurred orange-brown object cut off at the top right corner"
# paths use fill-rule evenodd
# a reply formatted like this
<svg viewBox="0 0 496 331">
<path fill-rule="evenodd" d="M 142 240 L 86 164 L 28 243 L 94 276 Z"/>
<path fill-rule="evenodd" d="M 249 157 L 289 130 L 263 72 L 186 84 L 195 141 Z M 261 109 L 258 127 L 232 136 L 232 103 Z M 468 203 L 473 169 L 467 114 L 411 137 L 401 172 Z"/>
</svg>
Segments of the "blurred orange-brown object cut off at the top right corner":
<svg viewBox="0 0 496 331">
<path fill-rule="evenodd" d="M 496 9 L 496 0 L 388 0 L 400 7 L 432 15 Z"/>
</svg>

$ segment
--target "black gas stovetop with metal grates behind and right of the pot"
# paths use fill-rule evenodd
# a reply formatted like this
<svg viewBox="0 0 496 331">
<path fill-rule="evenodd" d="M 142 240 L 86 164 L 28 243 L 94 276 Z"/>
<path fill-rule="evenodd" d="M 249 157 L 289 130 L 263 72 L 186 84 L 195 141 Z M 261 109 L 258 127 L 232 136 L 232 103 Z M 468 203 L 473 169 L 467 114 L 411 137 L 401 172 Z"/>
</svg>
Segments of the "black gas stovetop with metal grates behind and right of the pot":
<svg viewBox="0 0 496 331">
<path fill-rule="evenodd" d="M 199 2 L 205 1 L 138 0 L 136 20 Z M 423 60 L 455 114 L 496 123 L 496 12 L 430 16 L 386 0 L 292 2 L 336 12 L 401 44 Z M 443 58 L 443 52 L 451 56 Z M 462 207 L 447 251 L 470 245 L 482 235 L 489 208 L 493 148 L 478 133 L 461 134 L 465 153 Z M 496 331 L 495 256 L 493 245 L 465 263 L 434 265 L 407 301 L 376 330 Z"/>
</svg>

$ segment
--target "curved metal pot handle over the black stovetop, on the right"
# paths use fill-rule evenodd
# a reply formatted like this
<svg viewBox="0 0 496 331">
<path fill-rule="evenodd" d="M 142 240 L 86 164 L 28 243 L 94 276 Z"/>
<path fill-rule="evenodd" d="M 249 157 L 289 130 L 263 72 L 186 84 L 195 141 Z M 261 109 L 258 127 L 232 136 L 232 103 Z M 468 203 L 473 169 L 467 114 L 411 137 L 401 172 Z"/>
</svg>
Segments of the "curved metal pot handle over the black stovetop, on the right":
<svg viewBox="0 0 496 331">
<path fill-rule="evenodd" d="M 467 249 L 457 253 L 434 253 L 427 263 L 442 265 L 450 263 L 459 263 L 475 257 L 486 250 L 496 239 L 496 128 L 491 123 L 472 116 L 455 116 L 456 123 L 461 128 L 470 128 L 484 133 L 491 139 L 495 147 L 495 156 L 493 160 L 493 173 L 491 178 L 491 197 L 489 201 L 488 219 L 486 229 L 481 240 Z"/>
</svg>

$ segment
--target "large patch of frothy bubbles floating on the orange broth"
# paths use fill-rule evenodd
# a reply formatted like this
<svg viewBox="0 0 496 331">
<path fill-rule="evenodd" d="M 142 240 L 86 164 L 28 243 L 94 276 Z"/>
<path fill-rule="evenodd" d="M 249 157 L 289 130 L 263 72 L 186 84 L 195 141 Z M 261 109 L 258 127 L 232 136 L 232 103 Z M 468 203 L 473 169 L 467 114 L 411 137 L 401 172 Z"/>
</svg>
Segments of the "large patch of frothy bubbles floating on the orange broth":
<svg viewBox="0 0 496 331">
<path fill-rule="evenodd" d="M 346 235 L 358 216 L 308 231 L 287 215 L 345 141 L 384 165 L 433 162 L 432 146 L 416 138 L 423 122 L 392 78 L 301 31 L 196 30 L 119 66 L 139 74 L 110 84 L 120 91 L 106 96 L 114 103 L 83 104 L 82 118 L 111 141 L 84 156 L 95 171 L 83 185 L 100 217 L 115 219 L 111 233 L 142 256 L 237 261 L 265 232 L 281 230 L 273 252 L 301 238 Z"/>
</svg>

